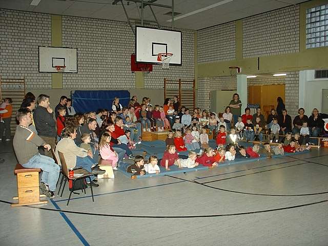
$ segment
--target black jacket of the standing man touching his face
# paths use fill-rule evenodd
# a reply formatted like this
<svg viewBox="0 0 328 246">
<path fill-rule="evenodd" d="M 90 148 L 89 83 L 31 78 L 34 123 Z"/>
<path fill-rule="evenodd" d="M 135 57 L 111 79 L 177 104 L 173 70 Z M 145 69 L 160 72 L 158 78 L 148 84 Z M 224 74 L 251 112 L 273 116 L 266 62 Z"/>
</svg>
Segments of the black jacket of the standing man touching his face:
<svg viewBox="0 0 328 246">
<path fill-rule="evenodd" d="M 57 136 L 56 121 L 53 118 L 53 113 L 50 114 L 45 107 L 38 105 L 34 110 L 33 119 L 39 136 Z"/>
</svg>

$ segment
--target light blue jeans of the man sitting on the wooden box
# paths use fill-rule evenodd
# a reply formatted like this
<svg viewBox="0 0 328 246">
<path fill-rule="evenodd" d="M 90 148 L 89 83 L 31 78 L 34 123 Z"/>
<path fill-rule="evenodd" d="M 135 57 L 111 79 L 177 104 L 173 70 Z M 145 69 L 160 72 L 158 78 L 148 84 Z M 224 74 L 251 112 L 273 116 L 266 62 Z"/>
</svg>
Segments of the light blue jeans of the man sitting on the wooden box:
<svg viewBox="0 0 328 246">
<path fill-rule="evenodd" d="M 50 191 L 56 190 L 60 167 L 52 158 L 37 153 L 22 166 L 24 168 L 40 168 L 42 170 L 41 181 L 49 186 Z"/>
</svg>

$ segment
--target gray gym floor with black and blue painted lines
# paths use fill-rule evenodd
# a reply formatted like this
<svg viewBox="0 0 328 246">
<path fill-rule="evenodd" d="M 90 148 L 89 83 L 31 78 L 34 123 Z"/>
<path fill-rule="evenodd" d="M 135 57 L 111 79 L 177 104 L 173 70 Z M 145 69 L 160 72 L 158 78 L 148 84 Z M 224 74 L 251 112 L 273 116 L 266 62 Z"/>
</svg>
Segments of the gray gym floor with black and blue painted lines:
<svg viewBox="0 0 328 246">
<path fill-rule="evenodd" d="M 99 179 L 11 208 L 16 164 L 0 143 L 0 245 L 328 245 L 328 149 L 207 171 Z M 64 210 L 66 212 L 58 212 Z M 78 213 L 76 213 L 78 212 Z"/>
</svg>

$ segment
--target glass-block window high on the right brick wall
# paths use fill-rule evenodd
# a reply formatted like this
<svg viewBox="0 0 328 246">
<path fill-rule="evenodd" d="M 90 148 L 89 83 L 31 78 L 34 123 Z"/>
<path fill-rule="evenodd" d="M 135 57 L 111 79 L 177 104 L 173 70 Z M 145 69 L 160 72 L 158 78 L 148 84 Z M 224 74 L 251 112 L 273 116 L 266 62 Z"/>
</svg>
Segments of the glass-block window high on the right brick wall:
<svg viewBox="0 0 328 246">
<path fill-rule="evenodd" d="M 306 9 L 306 49 L 328 46 L 328 4 Z"/>
</svg>

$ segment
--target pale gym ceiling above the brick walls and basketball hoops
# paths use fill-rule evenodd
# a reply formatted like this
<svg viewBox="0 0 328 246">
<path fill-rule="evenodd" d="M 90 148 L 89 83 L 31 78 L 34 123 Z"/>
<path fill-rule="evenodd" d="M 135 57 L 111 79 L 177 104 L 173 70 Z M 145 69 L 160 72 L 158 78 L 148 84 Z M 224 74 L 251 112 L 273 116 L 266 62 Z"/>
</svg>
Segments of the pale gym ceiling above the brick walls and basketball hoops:
<svg viewBox="0 0 328 246">
<path fill-rule="evenodd" d="M 25 10 L 49 14 L 74 15 L 92 18 L 127 21 L 120 3 L 114 0 L 41 0 L 37 6 L 30 5 L 32 0 L 0 0 L 0 8 Z M 145 0 L 147 2 L 148 0 Z M 186 14 L 222 0 L 174 0 L 174 12 Z M 202 28 L 231 22 L 232 20 L 299 4 L 307 0 L 233 0 L 218 7 L 175 20 L 177 28 L 199 30 Z M 140 18 L 140 8 L 133 2 L 123 1 L 130 18 Z M 157 0 L 156 4 L 171 5 L 171 0 Z M 138 4 L 140 6 L 140 4 Z M 171 26 L 171 16 L 164 15 L 169 8 L 152 6 L 161 26 Z M 144 19 L 154 20 L 149 7 L 145 7 Z"/>
</svg>

